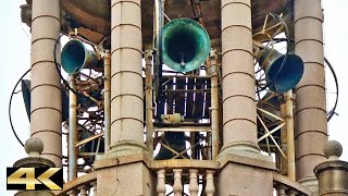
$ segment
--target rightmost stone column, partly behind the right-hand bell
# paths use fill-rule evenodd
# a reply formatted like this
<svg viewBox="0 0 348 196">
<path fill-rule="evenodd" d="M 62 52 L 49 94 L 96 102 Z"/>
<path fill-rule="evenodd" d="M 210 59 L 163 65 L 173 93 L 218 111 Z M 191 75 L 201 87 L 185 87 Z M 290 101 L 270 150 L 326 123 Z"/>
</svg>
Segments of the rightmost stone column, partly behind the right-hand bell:
<svg viewBox="0 0 348 196">
<path fill-rule="evenodd" d="M 323 52 L 323 13 L 320 0 L 295 0 L 295 52 L 304 63 L 296 87 L 297 180 L 318 192 L 313 169 L 326 160 L 326 94 Z"/>
</svg>

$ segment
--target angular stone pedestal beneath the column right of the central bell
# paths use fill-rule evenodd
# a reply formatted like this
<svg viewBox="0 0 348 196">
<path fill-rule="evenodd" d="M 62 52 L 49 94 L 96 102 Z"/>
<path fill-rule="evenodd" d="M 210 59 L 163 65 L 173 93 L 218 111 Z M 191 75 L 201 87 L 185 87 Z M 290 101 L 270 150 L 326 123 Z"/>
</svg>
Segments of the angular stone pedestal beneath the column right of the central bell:
<svg viewBox="0 0 348 196">
<path fill-rule="evenodd" d="M 216 195 L 273 195 L 275 166 L 268 156 L 243 150 L 233 152 L 240 155 L 221 157 Z"/>
</svg>

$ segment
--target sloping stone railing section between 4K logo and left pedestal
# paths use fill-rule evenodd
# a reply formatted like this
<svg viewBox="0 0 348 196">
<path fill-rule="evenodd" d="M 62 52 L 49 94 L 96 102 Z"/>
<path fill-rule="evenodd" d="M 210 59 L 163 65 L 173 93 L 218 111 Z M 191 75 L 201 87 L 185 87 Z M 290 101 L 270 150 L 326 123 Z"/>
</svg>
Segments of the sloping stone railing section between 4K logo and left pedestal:
<svg viewBox="0 0 348 196">
<path fill-rule="evenodd" d="M 64 183 L 62 191 L 53 192 L 58 196 L 87 196 L 94 194 L 97 196 L 97 174 L 88 173 L 73 181 Z"/>
</svg>

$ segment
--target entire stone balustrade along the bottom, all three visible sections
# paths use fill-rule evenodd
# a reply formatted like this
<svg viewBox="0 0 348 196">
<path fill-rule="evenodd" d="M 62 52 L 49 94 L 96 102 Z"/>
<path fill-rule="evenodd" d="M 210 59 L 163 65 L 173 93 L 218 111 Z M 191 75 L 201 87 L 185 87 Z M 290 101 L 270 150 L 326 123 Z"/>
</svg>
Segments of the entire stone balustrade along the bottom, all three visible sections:
<svg viewBox="0 0 348 196">
<path fill-rule="evenodd" d="M 170 159 L 149 163 L 157 174 L 157 195 L 198 196 L 216 195 L 214 174 L 220 169 L 219 162 L 209 160 Z M 173 191 L 169 193 L 167 187 Z M 184 188 L 184 186 L 186 188 Z M 273 173 L 273 187 L 277 196 L 312 196 L 312 192 L 287 176 Z M 97 174 L 88 173 L 63 185 L 62 191 L 53 192 L 58 196 L 97 195 Z"/>
</svg>

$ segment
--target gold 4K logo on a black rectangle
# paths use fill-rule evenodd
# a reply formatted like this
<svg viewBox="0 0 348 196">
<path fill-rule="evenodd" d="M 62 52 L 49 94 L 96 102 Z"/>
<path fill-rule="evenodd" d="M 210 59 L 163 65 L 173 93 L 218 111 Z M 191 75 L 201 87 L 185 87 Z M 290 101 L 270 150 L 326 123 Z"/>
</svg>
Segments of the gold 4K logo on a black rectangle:
<svg viewBox="0 0 348 196">
<path fill-rule="evenodd" d="M 8 168 L 8 189 L 62 189 L 62 168 Z"/>
</svg>

